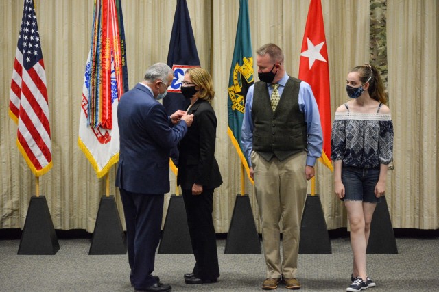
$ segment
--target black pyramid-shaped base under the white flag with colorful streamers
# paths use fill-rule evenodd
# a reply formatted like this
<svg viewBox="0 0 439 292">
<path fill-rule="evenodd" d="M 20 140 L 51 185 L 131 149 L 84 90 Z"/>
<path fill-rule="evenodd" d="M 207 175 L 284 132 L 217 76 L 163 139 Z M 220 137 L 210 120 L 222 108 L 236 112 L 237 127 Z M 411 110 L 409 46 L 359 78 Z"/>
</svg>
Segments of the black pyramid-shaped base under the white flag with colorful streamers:
<svg viewBox="0 0 439 292">
<path fill-rule="evenodd" d="M 88 254 L 126 254 L 125 233 L 114 196 L 102 196 Z"/>
</svg>

